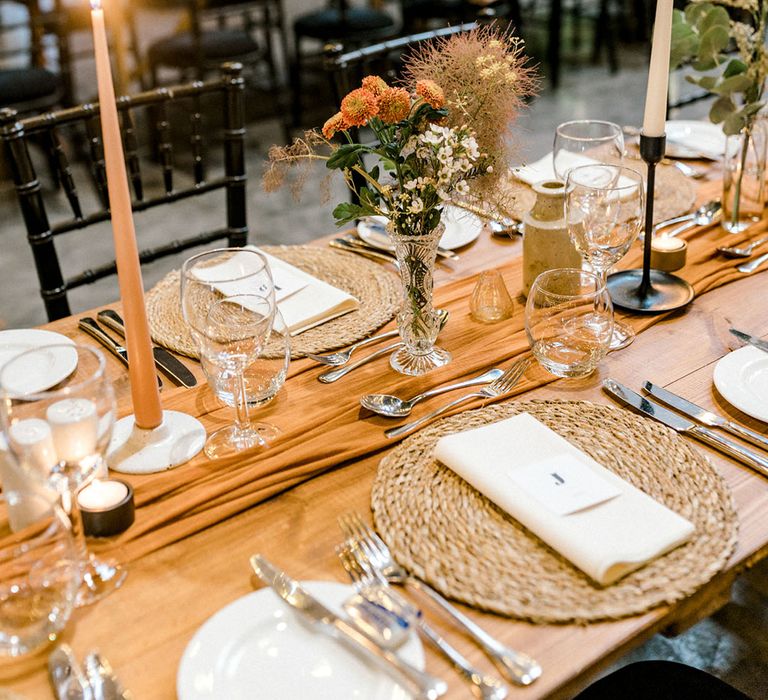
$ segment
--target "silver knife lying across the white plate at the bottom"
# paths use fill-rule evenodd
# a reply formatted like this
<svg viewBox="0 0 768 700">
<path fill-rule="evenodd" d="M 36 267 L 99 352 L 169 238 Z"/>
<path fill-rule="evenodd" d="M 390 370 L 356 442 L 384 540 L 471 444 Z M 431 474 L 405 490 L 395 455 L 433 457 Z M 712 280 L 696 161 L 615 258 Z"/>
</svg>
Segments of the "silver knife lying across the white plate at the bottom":
<svg viewBox="0 0 768 700">
<path fill-rule="evenodd" d="M 326 608 L 302 588 L 298 581 L 289 578 L 260 554 L 254 554 L 251 557 L 251 567 L 264 583 L 309 620 L 315 628 L 347 644 L 366 659 L 374 661 L 414 697 L 434 700 L 445 695 L 448 690 L 445 681 L 419 671 L 391 651 L 379 647 L 352 623 Z"/>
</svg>

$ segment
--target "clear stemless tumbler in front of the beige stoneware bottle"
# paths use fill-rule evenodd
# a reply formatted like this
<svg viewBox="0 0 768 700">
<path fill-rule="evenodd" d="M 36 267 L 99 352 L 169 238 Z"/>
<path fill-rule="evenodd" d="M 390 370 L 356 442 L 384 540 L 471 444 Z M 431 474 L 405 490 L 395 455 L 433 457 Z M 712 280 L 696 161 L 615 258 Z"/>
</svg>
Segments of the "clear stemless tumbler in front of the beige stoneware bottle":
<svg viewBox="0 0 768 700">
<path fill-rule="evenodd" d="M 542 272 L 525 305 L 525 332 L 534 357 L 558 377 L 590 374 L 608 352 L 613 305 L 594 272 L 561 268 Z"/>
</svg>

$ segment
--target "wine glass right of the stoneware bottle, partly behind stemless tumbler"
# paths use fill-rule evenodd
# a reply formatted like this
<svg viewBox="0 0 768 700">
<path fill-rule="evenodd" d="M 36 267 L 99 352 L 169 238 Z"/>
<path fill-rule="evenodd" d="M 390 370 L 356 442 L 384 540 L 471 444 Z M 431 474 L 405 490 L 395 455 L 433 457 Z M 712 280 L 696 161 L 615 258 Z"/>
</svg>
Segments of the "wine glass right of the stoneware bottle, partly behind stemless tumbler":
<svg viewBox="0 0 768 700">
<path fill-rule="evenodd" d="M 608 270 L 626 255 L 640 233 L 643 178 L 620 165 L 572 168 L 565 184 L 565 222 L 576 250 L 606 283 Z M 611 350 L 629 345 L 635 332 L 615 322 Z"/>
</svg>

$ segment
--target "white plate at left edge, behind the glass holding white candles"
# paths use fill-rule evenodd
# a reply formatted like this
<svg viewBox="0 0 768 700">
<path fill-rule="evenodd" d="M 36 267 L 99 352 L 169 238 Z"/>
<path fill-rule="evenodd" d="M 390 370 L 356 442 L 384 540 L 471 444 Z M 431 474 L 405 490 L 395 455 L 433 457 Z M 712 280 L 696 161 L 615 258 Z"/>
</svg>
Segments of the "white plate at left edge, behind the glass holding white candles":
<svg viewBox="0 0 768 700">
<path fill-rule="evenodd" d="M 25 350 L 47 345 L 74 345 L 75 342 L 61 333 L 41 331 L 36 328 L 19 328 L 0 331 L 0 367 Z M 77 351 L 57 348 L 41 353 L 44 363 L 30 368 L 23 378 L 17 377 L 14 388 L 20 393 L 31 394 L 45 391 L 66 379 L 77 367 Z"/>
</svg>

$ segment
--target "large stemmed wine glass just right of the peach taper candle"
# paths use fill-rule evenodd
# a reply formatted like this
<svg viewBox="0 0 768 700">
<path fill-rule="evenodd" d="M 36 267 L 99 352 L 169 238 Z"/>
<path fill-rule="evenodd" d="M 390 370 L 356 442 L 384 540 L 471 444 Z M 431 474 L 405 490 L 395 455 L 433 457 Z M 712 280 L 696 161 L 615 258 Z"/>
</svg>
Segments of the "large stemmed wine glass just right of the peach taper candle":
<svg viewBox="0 0 768 700">
<path fill-rule="evenodd" d="M 245 377 L 272 332 L 275 316 L 275 289 L 266 258 L 239 248 L 190 258 L 181 271 L 181 311 L 207 366 L 235 377 L 236 421 L 208 437 L 206 455 L 213 459 L 266 447 L 277 429 L 251 422 Z M 206 374 L 216 391 L 215 376 Z"/>
</svg>

